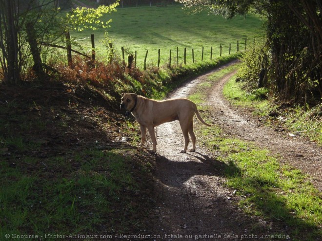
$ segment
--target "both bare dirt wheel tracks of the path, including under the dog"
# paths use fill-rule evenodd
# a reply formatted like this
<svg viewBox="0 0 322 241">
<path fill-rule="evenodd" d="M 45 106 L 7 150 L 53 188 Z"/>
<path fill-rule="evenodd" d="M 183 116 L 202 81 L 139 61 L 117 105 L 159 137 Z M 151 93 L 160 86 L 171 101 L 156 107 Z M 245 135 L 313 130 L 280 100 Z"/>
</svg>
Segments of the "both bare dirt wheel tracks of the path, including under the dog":
<svg viewBox="0 0 322 241">
<path fill-rule="evenodd" d="M 186 97 L 200 91 L 199 83 L 207 81 L 204 74 L 169 95 L 169 98 Z M 297 138 L 285 138 L 281 134 L 259 125 L 245 110 L 235 110 L 222 97 L 224 83 L 234 73 L 227 74 L 208 88 L 207 105 L 212 106 L 213 122 L 221 125 L 228 136 L 253 141 L 262 148 L 277 151 L 284 162 L 301 168 L 312 176 L 313 183 L 321 187 L 321 148 L 304 143 Z M 195 120 L 197 122 L 197 120 Z M 216 155 L 202 148 L 197 136 L 197 151 L 180 153 L 183 136 L 179 122 L 171 122 L 156 128 L 158 157 L 156 173 L 157 209 L 153 220 L 155 234 L 163 240 L 259 240 L 275 233 L 287 235 L 287 227 L 267 223 L 257 217 L 249 218 L 236 205 L 238 197 L 225 188 L 224 163 Z M 188 147 L 189 149 L 189 147 Z M 321 190 L 321 188 L 320 188 Z M 216 238 L 217 237 L 217 238 Z M 290 239 L 291 240 L 291 239 Z"/>
</svg>

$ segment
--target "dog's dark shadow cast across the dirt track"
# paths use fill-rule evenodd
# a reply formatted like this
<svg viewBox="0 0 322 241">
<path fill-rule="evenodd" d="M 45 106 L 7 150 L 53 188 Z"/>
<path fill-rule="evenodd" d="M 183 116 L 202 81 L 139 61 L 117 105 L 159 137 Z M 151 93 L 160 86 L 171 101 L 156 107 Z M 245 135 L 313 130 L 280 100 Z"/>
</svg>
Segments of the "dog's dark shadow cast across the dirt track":
<svg viewBox="0 0 322 241">
<path fill-rule="evenodd" d="M 188 156 L 185 158 L 183 156 L 183 160 L 177 161 L 157 155 L 156 177 L 162 184 L 181 187 L 193 176 L 222 177 L 232 170 L 239 171 L 233 164 L 227 165 L 200 152 L 188 152 L 182 155 Z"/>
</svg>

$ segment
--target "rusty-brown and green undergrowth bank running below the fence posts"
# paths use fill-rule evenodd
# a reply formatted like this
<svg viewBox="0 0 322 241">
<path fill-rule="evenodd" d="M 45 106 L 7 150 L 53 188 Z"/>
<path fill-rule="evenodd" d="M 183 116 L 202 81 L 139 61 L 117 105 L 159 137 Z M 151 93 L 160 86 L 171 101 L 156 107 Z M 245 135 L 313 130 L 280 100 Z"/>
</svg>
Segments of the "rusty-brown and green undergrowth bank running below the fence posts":
<svg viewBox="0 0 322 241">
<path fill-rule="evenodd" d="M 197 76 L 217 66 L 225 64 L 240 56 L 240 53 L 224 56 L 212 61 L 173 66 L 171 68 L 149 67 L 143 71 L 139 68 L 128 68 L 122 61 L 113 63 L 96 62 L 96 68 L 91 62 L 78 56 L 74 57 L 73 66 L 63 63 L 55 68 L 59 74 L 53 77 L 60 82 L 92 86 L 102 92 L 107 99 L 115 101 L 123 92 L 132 92 L 155 99 L 164 96 L 188 78 Z"/>
</svg>

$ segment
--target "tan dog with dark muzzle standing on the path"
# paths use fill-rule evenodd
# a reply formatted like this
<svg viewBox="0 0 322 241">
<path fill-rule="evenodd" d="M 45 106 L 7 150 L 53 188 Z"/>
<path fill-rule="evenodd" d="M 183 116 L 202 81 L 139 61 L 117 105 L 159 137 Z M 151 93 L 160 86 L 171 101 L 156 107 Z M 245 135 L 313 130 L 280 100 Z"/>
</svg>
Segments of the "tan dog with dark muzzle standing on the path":
<svg viewBox="0 0 322 241">
<path fill-rule="evenodd" d="M 153 151 L 157 151 L 157 140 L 154 133 L 154 127 L 165 122 L 179 120 L 184 136 L 184 149 L 181 150 L 182 153 L 185 153 L 188 148 L 188 133 L 190 134 L 192 141 L 192 149 L 190 149 L 190 151 L 196 150 L 196 136 L 193 132 L 193 116 L 195 113 L 202 124 L 211 126 L 202 120 L 196 104 L 188 99 L 179 98 L 157 101 L 135 93 L 122 93 L 121 95 L 121 109 L 131 112 L 140 124 L 140 146 L 142 146 L 146 140 L 146 129 L 148 129 L 153 143 Z"/>
</svg>

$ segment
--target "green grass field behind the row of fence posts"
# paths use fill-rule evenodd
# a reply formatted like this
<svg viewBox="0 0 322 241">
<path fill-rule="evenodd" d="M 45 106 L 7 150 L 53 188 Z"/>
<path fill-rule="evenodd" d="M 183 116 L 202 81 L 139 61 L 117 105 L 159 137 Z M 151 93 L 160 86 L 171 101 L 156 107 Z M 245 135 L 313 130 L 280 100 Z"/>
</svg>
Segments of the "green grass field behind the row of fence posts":
<svg viewBox="0 0 322 241">
<path fill-rule="evenodd" d="M 112 19 L 111 27 L 107 29 L 109 37 L 114 39 L 114 46 L 121 56 L 121 47 L 133 53 L 137 51 L 138 66 L 143 65 L 146 50 L 148 50 L 147 63 L 157 65 L 158 50 L 161 50 L 160 66 L 169 61 L 169 52 L 172 51 L 172 63 L 177 63 L 177 47 L 179 48 L 179 64 L 183 63 L 183 52 L 186 48 L 187 63 L 192 63 L 192 49 L 194 49 L 195 62 L 201 61 L 202 47 L 204 47 L 203 60 L 210 59 L 213 47 L 214 59 L 220 55 L 228 55 L 229 44 L 231 53 L 245 49 L 245 39 L 253 41 L 255 35 L 261 32 L 262 20 L 249 14 L 244 19 L 223 19 L 221 16 L 207 13 L 186 14 L 182 6 L 168 7 L 131 7 L 118 8 L 117 12 L 106 15 Z M 87 46 L 90 51 L 90 34 L 95 34 L 95 46 L 98 54 L 106 55 L 106 49 L 100 40 L 104 38 L 105 29 L 90 32 L 73 32 L 72 37 L 81 39 L 78 42 Z M 126 59 L 126 56 L 125 56 Z"/>
</svg>

